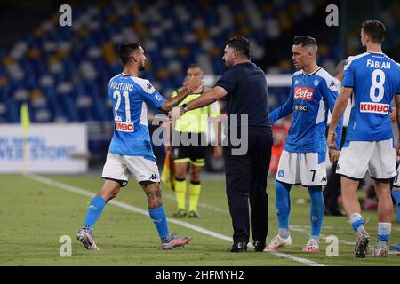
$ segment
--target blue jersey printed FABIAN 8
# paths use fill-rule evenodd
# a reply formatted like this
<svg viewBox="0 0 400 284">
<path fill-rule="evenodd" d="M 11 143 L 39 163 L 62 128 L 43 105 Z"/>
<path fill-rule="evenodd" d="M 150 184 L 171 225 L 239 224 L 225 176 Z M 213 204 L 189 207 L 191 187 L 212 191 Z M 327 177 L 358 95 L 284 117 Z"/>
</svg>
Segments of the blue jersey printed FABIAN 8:
<svg viewBox="0 0 400 284">
<path fill-rule="evenodd" d="M 400 94 L 400 67 L 383 53 L 350 56 L 344 67 L 343 87 L 353 88 L 348 141 L 393 138 L 390 103 Z"/>
</svg>

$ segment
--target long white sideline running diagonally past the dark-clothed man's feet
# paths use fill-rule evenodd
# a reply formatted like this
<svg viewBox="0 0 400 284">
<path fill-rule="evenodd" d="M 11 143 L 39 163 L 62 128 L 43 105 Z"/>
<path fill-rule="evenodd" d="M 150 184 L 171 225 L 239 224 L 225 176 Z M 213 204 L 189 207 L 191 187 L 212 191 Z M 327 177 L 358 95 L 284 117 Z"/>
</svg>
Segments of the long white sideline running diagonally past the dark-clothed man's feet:
<svg viewBox="0 0 400 284">
<path fill-rule="evenodd" d="M 86 191 L 86 190 L 84 190 L 82 188 L 79 188 L 79 187 L 76 187 L 76 186 L 73 186 L 73 185 L 67 185 L 67 184 L 64 184 L 64 183 L 60 183 L 59 181 L 55 181 L 55 180 L 52 180 L 52 179 L 47 178 L 47 177 L 42 177 L 42 176 L 38 176 L 38 175 L 35 175 L 35 174 L 29 174 L 26 177 L 28 177 L 30 179 L 33 179 L 33 180 L 36 180 L 37 182 L 43 183 L 45 185 L 52 185 L 52 186 L 59 187 L 60 189 L 66 190 L 66 191 L 71 192 L 71 193 L 78 193 L 78 194 L 81 194 L 81 195 L 84 195 L 84 196 L 87 196 L 87 197 L 93 197 L 95 195 L 95 193 L 91 193 L 91 192 Z M 148 216 L 148 211 L 147 210 L 140 209 L 138 207 L 129 205 L 129 204 L 124 203 L 124 202 L 108 201 L 108 203 L 112 204 L 112 205 L 115 205 L 117 207 L 123 208 L 123 209 L 130 210 L 132 212 L 139 213 L 141 215 Z M 188 229 L 192 229 L 192 230 L 194 230 L 194 231 L 196 231 L 198 233 L 204 233 L 206 235 L 210 235 L 210 236 L 212 236 L 212 237 L 214 237 L 216 239 L 225 240 L 225 241 L 231 241 L 231 242 L 233 241 L 232 238 L 230 238 L 228 236 L 225 236 L 225 235 L 220 234 L 220 233 L 212 232 L 210 230 L 204 229 L 203 227 L 199 227 L 197 225 L 192 225 L 192 224 L 190 224 L 188 222 L 179 221 L 179 220 L 176 220 L 176 219 L 173 219 L 173 218 L 168 218 L 168 222 L 172 223 L 172 224 L 176 224 L 176 225 L 181 225 L 181 226 L 186 227 Z M 250 245 L 250 247 L 252 247 L 252 245 Z M 306 264 L 308 266 L 326 266 L 325 264 L 318 264 L 318 263 L 316 263 L 316 262 L 314 262 L 312 260 L 309 260 L 307 258 L 292 256 L 292 255 L 283 254 L 283 253 L 279 253 L 279 252 L 274 252 L 274 253 L 271 253 L 271 254 L 275 255 L 275 256 L 281 256 L 281 257 L 284 257 L 284 258 L 288 258 L 288 259 L 291 259 L 292 261 L 298 262 L 300 264 Z"/>
</svg>

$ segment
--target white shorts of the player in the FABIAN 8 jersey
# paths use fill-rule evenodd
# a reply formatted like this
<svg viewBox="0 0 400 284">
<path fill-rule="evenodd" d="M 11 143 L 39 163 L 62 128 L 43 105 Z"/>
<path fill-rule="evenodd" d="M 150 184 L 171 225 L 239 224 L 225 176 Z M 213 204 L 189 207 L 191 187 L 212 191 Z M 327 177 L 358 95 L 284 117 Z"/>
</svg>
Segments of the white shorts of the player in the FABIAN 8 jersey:
<svg viewBox="0 0 400 284">
<path fill-rule="evenodd" d="M 389 179 L 396 176 L 396 150 L 393 139 L 347 141 L 344 144 L 336 173 L 362 179 L 367 170 L 374 179 Z"/>
</svg>

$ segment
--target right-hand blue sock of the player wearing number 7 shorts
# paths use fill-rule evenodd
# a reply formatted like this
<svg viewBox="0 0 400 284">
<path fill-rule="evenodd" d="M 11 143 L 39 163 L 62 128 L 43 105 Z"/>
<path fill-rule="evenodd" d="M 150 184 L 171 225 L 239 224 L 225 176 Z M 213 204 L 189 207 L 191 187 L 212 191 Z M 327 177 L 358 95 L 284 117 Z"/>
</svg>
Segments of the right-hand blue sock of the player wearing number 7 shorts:
<svg viewBox="0 0 400 284">
<path fill-rule="evenodd" d="M 321 234 L 321 227 L 324 220 L 324 196 L 322 193 L 322 186 L 308 187 L 308 194 L 311 199 L 310 209 L 310 222 L 311 222 L 311 236 L 310 239 L 319 241 Z"/>
</svg>

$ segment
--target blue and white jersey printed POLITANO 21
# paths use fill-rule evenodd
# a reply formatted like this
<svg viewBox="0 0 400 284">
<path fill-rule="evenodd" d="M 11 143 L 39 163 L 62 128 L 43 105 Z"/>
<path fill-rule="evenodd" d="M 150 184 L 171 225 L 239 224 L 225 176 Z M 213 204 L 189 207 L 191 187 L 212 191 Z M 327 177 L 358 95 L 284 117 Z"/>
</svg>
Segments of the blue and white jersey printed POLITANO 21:
<svg viewBox="0 0 400 284">
<path fill-rule="evenodd" d="M 148 80 L 122 73 L 109 81 L 108 99 L 115 122 L 109 152 L 156 161 L 148 131 L 148 105 L 158 108 L 165 99 Z"/>
</svg>

